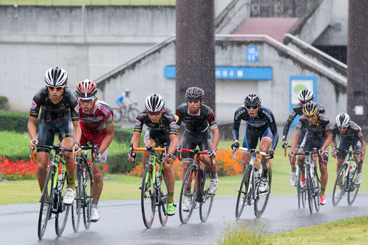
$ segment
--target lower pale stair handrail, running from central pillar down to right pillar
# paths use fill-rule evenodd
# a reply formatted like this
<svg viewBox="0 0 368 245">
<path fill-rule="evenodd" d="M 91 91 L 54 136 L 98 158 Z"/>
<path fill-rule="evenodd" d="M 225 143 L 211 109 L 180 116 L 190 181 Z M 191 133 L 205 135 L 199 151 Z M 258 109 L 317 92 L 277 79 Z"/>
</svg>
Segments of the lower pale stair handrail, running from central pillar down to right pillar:
<svg viewBox="0 0 368 245">
<path fill-rule="evenodd" d="M 316 67 L 317 69 L 323 71 L 325 74 L 329 74 L 331 77 L 336 79 L 339 84 L 341 84 L 343 86 L 347 85 L 347 78 L 345 76 L 335 72 L 334 70 L 326 67 L 323 64 L 320 64 L 318 61 L 312 59 L 311 57 L 286 46 L 285 44 L 277 41 L 276 39 L 274 39 L 274 38 L 272 38 L 268 35 L 265 35 L 265 34 L 216 34 L 215 37 L 217 37 L 217 38 L 264 38 L 264 39 L 267 39 L 270 42 L 276 44 L 277 46 L 280 46 L 281 48 L 283 48 L 285 51 L 287 51 L 292 56 L 294 56 L 296 58 L 299 58 L 299 59 L 303 60 L 306 63 L 309 63 L 310 65 L 312 65 L 312 66 Z"/>
</svg>

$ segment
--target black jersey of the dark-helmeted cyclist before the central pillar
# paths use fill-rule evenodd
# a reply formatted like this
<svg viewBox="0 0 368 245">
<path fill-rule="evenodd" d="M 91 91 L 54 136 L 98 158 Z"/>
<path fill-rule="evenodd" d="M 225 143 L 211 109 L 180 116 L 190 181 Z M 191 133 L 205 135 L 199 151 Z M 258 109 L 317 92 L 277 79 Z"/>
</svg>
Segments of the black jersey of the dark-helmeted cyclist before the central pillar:
<svg viewBox="0 0 368 245">
<path fill-rule="evenodd" d="M 176 116 L 179 119 L 176 122 L 176 127 L 180 128 L 181 122 L 186 125 L 186 130 L 191 133 L 201 133 L 208 129 L 217 128 L 217 122 L 213 111 L 206 105 L 201 105 L 196 116 L 191 116 L 187 104 L 182 104 L 176 109 Z"/>
</svg>

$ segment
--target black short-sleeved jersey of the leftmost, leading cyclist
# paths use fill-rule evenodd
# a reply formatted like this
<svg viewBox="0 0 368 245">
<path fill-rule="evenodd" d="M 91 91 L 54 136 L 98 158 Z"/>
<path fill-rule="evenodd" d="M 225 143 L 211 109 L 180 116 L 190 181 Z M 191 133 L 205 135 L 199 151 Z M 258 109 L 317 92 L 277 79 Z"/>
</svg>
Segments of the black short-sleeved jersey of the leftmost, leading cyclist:
<svg viewBox="0 0 368 245">
<path fill-rule="evenodd" d="M 47 87 L 44 87 L 33 97 L 29 116 L 38 118 L 41 109 L 40 120 L 46 122 L 61 119 L 68 114 L 72 121 L 79 121 L 79 107 L 77 98 L 69 89 L 65 89 L 63 99 L 60 102 L 53 104 L 48 97 Z"/>
</svg>

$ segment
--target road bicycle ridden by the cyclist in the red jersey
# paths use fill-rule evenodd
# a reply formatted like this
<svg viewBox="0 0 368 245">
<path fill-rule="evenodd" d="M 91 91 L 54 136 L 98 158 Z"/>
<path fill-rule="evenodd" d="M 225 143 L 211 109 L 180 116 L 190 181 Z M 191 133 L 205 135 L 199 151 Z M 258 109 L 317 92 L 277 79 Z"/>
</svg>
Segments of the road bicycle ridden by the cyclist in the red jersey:
<svg viewBox="0 0 368 245">
<path fill-rule="evenodd" d="M 88 160 L 87 151 L 94 150 L 94 155 L 98 155 L 97 145 L 82 146 L 82 154 L 75 161 L 76 179 L 75 179 L 75 198 L 72 205 L 72 224 L 74 232 L 78 231 L 81 218 L 81 210 L 83 210 L 83 223 L 86 229 L 89 228 L 91 204 L 92 204 L 92 167 Z M 78 148 L 76 148 L 78 150 Z M 91 154 L 93 156 L 93 154 Z"/>
</svg>

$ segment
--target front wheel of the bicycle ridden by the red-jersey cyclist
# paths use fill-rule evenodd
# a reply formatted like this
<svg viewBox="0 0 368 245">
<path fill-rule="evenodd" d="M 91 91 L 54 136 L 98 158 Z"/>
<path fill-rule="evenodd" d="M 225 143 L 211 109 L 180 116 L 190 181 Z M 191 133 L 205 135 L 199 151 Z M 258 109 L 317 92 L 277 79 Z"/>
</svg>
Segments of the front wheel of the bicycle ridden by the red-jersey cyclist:
<svg viewBox="0 0 368 245">
<path fill-rule="evenodd" d="M 72 204 L 72 225 L 74 232 L 77 232 L 79 229 L 79 223 L 81 220 L 81 202 L 82 202 L 82 172 L 83 169 L 81 167 L 77 168 L 76 171 L 76 180 L 74 184 L 74 190 L 76 192 L 74 202 Z"/>
</svg>

